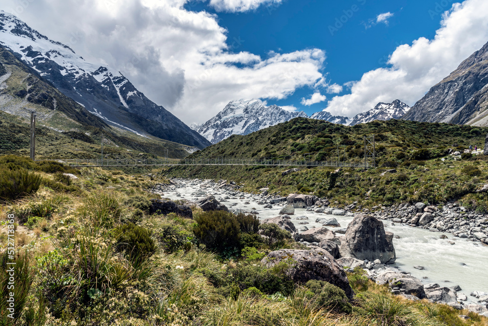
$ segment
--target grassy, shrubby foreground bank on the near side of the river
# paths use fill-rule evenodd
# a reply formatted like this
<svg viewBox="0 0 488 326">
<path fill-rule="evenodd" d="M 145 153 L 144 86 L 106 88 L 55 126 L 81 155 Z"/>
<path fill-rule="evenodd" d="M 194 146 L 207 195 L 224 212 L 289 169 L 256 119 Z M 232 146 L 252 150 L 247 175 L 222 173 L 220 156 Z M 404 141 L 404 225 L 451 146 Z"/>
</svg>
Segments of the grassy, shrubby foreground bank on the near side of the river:
<svg viewBox="0 0 488 326">
<path fill-rule="evenodd" d="M 64 178 L 63 172 L 78 179 Z M 143 189 L 164 182 L 147 174 L 74 170 L 1 156 L 0 197 L 8 200 L 0 202 L 0 241 L 5 248 L 8 230 L 15 230 L 15 247 L 9 250 L 14 250 L 17 265 L 15 320 L 6 316 L 4 295 L 0 324 L 488 325 L 468 310 L 393 295 L 369 281 L 361 268 L 347 274 L 357 295 L 351 302 L 334 285 L 294 283 L 285 273 L 286 264 L 267 268 L 260 260 L 270 250 L 303 245 L 289 238 L 263 242 L 252 228 L 244 231 L 241 222 L 207 224 L 220 232 L 232 227 L 243 241 L 229 246 L 222 237 L 219 249 L 206 247 L 197 232 L 201 221 L 226 213 L 192 207 L 193 220 L 150 214 L 149 199 L 156 196 Z M 7 186 L 17 191 L 4 191 Z M 13 260 L 0 251 L 1 293 L 9 282 L 6 263 Z"/>
</svg>

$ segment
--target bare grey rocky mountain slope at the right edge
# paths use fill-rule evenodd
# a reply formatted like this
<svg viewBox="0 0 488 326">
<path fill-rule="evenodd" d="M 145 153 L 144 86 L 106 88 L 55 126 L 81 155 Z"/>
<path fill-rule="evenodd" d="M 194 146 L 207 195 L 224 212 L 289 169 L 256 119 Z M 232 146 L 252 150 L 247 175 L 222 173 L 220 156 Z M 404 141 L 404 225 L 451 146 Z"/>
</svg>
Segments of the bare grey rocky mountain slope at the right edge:
<svg viewBox="0 0 488 326">
<path fill-rule="evenodd" d="M 430 88 L 403 119 L 488 125 L 488 43 Z"/>
</svg>

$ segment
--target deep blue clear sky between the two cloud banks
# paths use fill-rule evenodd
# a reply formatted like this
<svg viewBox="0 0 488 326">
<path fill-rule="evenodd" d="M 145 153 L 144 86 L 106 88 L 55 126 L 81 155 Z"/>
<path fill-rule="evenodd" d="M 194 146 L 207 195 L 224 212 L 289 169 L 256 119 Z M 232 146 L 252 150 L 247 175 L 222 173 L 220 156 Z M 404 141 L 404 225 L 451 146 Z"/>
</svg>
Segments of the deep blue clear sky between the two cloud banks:
<svg viewBox="0 0 488 326">
<path fill-rule="evenodd" d="M 326 55 L 323 73 L 331 83 L 343 85 L 360 80 L 367 71 L 388 66 L 388 56 L 397 46 L 420 37 L 433 39 L 441 15 L 454 3 L 440 2 L 285 0 L 235 13 L 216 11 L 208 2 L 192 1 L 185 8 L 217 15 L 219 24 L 228 31 L 227 44 L 232 52 L 248 51 L 266 57 L 270 51 L 323 49 Z M 390 17 L 377 22 L 377 17 L 385 13 L 390 13 L 386 15 Z M 301 103 L 312 93 L 309 87 L 302 87 L 286 99 L 267 102 L 293 105 L 311 115 L 326 107 L 326 101 L 310 106 Z M 340 94 L 346 93 L 345 87 Z"/>
</svg>

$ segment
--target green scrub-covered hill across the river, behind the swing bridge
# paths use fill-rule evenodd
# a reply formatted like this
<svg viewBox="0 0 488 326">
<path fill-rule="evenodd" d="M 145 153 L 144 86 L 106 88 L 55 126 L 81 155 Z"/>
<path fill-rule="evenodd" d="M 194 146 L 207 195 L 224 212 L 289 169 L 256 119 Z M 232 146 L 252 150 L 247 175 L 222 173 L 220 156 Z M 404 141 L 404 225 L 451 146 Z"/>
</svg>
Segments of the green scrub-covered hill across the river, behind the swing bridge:
<svg viewBox="0 0 488 326">
<path fill-rule="evenodd" d="M 484 145 L 488 128 L 390 120 L 352 127 L 319 120 L 296 118 L 247 136 L 232 136 L 188 158 L 272 158 L 317 161 L 364 160 L 364 137 L 375 135 L 376 169 L 315 167 L 285 176 L 285 167 L 176 166 L 163 170 L 168 177 L 234 180 L 247 191 L 269 187 L 270 192 L 313 193 L 339 204 L 361 201 L 363 205 L 400 202 L 431 204 L 460 200 L 488 211 L 487 196 L 476 193 L 488 183 L 488 160 L 483 155 L 463 155 L 457 160 L 449 149 L 461 152 L 469 145 Z M 480 150 L 478 151 L 478 153 Z M 444 161 L 443 161 L 444 160 Z M 381 175 L 387 169 L 396 173 Z"/>
</svg>

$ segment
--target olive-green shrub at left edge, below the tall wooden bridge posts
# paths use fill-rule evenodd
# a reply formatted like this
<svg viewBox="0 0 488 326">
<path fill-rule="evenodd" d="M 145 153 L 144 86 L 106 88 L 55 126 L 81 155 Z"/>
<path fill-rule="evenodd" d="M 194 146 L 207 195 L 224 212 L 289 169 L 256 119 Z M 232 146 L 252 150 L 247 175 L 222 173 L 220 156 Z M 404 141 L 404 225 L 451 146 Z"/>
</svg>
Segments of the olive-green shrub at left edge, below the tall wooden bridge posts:
<svg viewBox="0 0 488 326">
<path fill-rule="evenodd" d="M 35 173 L 0 167 L 0 200 L 16 200 L 35 193 L 41 182 L 41 176 Z"/>
</svg>

